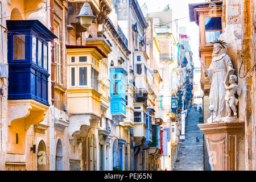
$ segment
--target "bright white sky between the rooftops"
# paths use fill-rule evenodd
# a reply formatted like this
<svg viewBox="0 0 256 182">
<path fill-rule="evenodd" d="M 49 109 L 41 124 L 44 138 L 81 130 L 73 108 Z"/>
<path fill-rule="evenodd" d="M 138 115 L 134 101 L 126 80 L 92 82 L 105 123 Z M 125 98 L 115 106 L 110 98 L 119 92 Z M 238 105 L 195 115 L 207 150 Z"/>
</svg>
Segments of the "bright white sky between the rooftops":
<svg viewBox="0 0 256 182">
<path fill-rule="evenodd" d="M 179 26 L 187 27 L 187 35 L 191 39 L 191 51 L 193 52 L 194 65 L 195 67 L 200 67 L 199 27 L 195 22 L 189 22 L 188 4 L 205 2 L 205 0 L 138 0 L 138 2 L 140 6 L 146 2 L 148 13 L 162 11 L 164 7 L 169 4 L 170 9 L 172 9 L 173 19 L 184 18 L 179 20 Z"/>
</svg>

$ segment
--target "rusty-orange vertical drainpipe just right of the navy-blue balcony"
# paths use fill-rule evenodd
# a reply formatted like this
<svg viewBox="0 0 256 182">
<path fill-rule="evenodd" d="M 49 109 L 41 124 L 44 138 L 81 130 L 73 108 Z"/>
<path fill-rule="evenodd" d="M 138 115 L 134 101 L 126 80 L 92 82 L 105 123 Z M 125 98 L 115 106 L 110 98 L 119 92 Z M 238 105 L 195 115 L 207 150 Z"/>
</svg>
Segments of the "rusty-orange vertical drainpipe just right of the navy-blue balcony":
<svg viewBox="0 0 256 182">
<path fill-rule="evenodd" d="M 51 31 L 54 34 L 54 0 L 50 0 L 50 19 Z M 52 91 L 52 105 L 54 104 L 54 86 L 55 86 L 55 60 L 54 60 L 54 40 L 51 41 L 51 91 Z"/>
</svg>

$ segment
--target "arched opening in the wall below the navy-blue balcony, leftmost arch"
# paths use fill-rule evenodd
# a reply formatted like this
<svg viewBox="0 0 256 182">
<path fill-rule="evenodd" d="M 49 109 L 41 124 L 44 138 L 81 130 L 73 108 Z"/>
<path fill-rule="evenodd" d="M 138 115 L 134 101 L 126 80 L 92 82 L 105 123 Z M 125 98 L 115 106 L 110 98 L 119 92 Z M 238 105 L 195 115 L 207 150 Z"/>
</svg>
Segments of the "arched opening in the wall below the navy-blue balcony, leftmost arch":
<svg viewBox="0 0 256 182">
<path fill-rule="evenodd" d="M 38 171 L 46 171 L 46 144 L 43 140 L 38 144 L 37 167 Z"/>
</svg>

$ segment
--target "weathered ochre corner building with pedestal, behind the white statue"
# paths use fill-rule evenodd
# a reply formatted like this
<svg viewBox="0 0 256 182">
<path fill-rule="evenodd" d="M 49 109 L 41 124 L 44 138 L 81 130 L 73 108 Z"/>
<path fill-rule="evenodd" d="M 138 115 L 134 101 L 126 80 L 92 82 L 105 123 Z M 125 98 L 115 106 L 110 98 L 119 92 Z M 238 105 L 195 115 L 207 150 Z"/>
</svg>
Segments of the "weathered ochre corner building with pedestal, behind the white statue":
<svg viewBox="0 0 256 182">
<path fill-rule="evenodd" d="M 203 5 L 203 6 L 202 6 Z M 200 125 L 201 131 L 205 134 L 205 142 L 209 159 L 210 170 L 255 170 L 255 1 L 209 1 L 205 3 L 189 5 L 189 15 L 191 22 L 196 22 L 200 30 L 200 57 L 209 68 L 212 63 L 213 40 L 220 39 L 226 43 L 224 51 L 230 56 L 234 75 L 237 83 L 242 85 L 242 91 L 238 96 L 238 115 L 233 117 L 230 123 L 207 123 L 209 118 L 209 90 L 210 80 L 204 78 L 204 66 L 201 67 L 201 86 L 204 92 L 204 125 Z M 213 24 L 215 21 L 217 24 Z M 254 22 L 254 23 L 253 23 Z M 212 34 L 213 36 L 209 36 Z M 213 55 L 214 56 L 214 55 Z M 246 59 L 244 59 L 246 57 Z M 220 129 L 220 125 L 226 125 L 225 131 Z M 237 127 L 237 130 L 234 129 Z M 213 127 L 215 131 L 212 132 Z M 232 133 L 233 131 L 233 133 Z M 211 134 L 209 134 L 211 133 Z M 230 135 L 236 139 L 230 140 Z M 219 143 L 225 143 L 229 150 L 229 156 L 218 159 L 213 163 L 211 153 L 220 150 L 227 153 L 225 148 L 216 145 L 212 148 L 212 139 Z M 216 156 L 218 154 L 216 153 Z"/>
</svg>

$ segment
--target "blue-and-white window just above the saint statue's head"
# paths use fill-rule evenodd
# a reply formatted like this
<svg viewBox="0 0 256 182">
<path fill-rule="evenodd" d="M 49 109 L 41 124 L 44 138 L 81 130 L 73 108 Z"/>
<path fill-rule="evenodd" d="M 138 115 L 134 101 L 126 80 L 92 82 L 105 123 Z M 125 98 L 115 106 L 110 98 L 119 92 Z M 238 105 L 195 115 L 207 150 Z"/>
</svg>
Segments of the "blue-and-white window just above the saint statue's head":
<svg viewBox="0 0 256 182">
<path fill-rule="evenodd" d="M 212 44 L 221 34 L 221 17 L 208 17 L 204 19 L 205 23 L 205 44 Z"/>
</svg>

